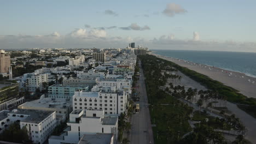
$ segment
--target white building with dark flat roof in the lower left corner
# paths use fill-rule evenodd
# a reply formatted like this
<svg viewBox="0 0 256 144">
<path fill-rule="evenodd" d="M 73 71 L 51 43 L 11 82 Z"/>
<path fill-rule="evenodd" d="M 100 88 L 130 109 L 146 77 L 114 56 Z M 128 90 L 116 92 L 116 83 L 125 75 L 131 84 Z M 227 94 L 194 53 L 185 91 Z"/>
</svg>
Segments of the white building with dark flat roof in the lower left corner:
<svg viewBox="0 0 256 144">
<path fill-rule="evenodd" d="M 8 124 L 20 122 L 20 128 L 27 128 L 33 143 L 43 143 L 56 127 L 55 111 L 14 109 L 8 112 L 7 118 L 2 119 L 5 120 Z"/>
</svg>

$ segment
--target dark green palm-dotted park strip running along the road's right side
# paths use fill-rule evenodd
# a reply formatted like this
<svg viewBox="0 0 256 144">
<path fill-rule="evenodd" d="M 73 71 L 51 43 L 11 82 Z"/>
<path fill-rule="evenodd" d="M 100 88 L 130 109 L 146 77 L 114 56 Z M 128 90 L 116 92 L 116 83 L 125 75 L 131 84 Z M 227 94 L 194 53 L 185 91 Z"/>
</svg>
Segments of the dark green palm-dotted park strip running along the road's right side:
<svg viewBox="0 0 256 144">
<path fill-rule="evenodd" d="M 184 134 L 192 130 L 188 119 L 193 108 L 161 90 L 167 80 L 161 70 L 170 67 L 147 57 L 139 58 L 146 78 L 148 102 L 152 104 L 149 106 L 151 122 L 156 125 L 153 127 L 154 143 L 178 143 Z"/>
</svg>

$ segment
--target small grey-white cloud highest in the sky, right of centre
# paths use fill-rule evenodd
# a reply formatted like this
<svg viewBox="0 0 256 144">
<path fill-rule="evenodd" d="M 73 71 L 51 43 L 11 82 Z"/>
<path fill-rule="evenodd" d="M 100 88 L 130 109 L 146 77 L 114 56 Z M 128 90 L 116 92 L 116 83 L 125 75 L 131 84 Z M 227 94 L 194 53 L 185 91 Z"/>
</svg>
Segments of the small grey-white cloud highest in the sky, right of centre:
<svg viewBox="0 0 256 144">
<path fill-rule="evenodd" d="M 168 17 L 173 17 L 176 14 L 187 13 L 187 10 L 183 9 L 179 4 L 170 3 L 166 5 L 166 9 L 162 13 Z"/>
</svg>

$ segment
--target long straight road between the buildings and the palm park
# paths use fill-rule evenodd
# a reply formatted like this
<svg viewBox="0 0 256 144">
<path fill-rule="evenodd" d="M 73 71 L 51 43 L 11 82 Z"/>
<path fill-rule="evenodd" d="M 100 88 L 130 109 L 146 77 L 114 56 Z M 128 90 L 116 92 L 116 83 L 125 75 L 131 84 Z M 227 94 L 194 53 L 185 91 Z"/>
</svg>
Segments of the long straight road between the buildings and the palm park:
<svg viewBox="0 0 256 144">
<path fill-rule="evenodd" d="M 139 61 L 139 80 L 137 85 L 137 92 L 140 93 L 138 104 L 140 106 L 140 112 L 132 116 L 132 128 L 130 134 L 130 143 L 154 143 L 153 131 L 150 121 L 150 114 L 148 109 L 148 98 L 146 92 L 146 86 L 144 82 L 144 74 L 141 67 L 141 61 Z"/>
</svg>

